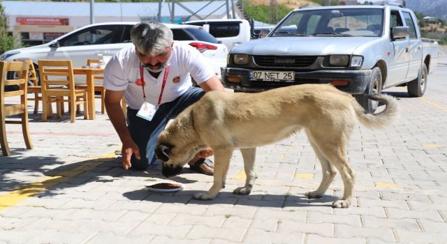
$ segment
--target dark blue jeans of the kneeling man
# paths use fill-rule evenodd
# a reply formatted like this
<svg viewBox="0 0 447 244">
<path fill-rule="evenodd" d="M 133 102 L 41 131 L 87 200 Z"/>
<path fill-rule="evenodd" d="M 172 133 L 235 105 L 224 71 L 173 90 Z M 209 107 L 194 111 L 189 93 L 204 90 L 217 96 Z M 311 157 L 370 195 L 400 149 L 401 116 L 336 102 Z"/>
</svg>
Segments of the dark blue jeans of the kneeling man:
<svg viewBox="0 0 447 244">
<path fill-rule="evenodd" d="M 131 169 L 145 170 L 150 164 L 155 162 L 155 144 L 160 132 L 170 119 L 175 118 L 186 107 L 197 102 L 204 94 L 205 91 L 202 89 L 190 87 L 182 96 L 179 96 L 172 102 L 160 105 L 152 121 L 136 116 L 138 110 L 127 108 L 127 127 L 133 142 L 140 149 L 140 160 L 136 159 L 135 155 L 132 155 Z"/>
</svg>

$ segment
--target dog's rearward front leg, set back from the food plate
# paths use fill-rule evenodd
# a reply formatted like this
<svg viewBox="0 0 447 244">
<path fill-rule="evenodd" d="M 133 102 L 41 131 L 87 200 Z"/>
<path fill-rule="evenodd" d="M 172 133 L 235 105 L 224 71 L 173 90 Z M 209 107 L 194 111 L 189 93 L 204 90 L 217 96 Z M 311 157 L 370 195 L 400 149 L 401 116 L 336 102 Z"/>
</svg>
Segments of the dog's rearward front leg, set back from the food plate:
<svg viewBox="0 0 447 244">
<path fill-rule="evenodd" d="M 244 158 L 244 171 L 247 178 L 245 179 L 245 185 L 233 190 L 237 195 L 249 195 L 251 188 L 253 188 L 256 178 L 256 172 L 254 162 L 256 160 L 256 147 L 255 148 L 241 148 L 242 158 Z"/>
</svg>

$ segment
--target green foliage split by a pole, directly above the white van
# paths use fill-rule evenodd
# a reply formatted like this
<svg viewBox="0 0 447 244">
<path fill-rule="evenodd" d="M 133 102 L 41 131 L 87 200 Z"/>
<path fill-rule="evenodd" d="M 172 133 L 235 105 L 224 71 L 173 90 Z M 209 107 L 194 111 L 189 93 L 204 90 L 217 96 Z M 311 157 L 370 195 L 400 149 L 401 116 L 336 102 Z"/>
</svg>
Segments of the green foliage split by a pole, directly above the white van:
<svg viewBox="0 0 447 244">
<path fill-rule="evenodd" d="M 293 8 L 288 8 L 282 4 L 278 4 L 277 6 L 278 6 L 278 22 L 282 20 L 282 18 L 284 18 L 288 13 L 290 13 L 291 10 L 293 10 Z M 274 18 L 269 17 L 269 13 L 271 16 L 274 16 L 274 8 L 270 10 L 270 6 L 267 5 L 254 6 L 251 5 L 249 1 L 244 1 L 244 11 L 245 13 L 247 13 L 249 19 L 254 19 L 268 24 L 277 24 L 274 22 Z M 273 13 L 271 13 L 270 11 L 273 11 Z"/>
</svg>

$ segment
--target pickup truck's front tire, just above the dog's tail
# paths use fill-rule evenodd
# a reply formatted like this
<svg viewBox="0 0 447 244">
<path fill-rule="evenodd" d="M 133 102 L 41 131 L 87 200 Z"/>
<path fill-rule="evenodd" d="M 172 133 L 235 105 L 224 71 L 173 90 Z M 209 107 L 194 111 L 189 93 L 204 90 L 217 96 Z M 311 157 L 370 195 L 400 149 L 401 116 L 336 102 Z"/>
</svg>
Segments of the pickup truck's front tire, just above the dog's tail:
<svg viewBox="0 0 447 244">
<path fill-rule="evenodd" d="M 377 107 L 379 107 L 379 102 L 371 100 L 368 98 L 369 95 L 374 93 L 380 93 L 382 90 L 382 73 L 379 67 L 374 67 L 372 69 L 371 79 L 369 80 L 365 93 L 356 94 L 354 97 L 357 102 L 365 109 L 366 112 L 374 114 Z"/>
</svg>

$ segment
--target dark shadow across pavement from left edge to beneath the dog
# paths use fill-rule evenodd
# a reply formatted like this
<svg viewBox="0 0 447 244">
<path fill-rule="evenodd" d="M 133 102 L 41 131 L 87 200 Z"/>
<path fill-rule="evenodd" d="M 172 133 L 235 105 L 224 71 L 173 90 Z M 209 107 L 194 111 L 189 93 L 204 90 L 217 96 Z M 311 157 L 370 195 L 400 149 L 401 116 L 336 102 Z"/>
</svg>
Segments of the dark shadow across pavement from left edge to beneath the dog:
<svg viewBox="0 0 447 244">
<path fill-rule="evenodd" d="M 20 153 L 20 151 L 16 153 Z M 20 164 L 17 164 L 16 160 L 20 160 Z M 52 157 L 21 157 L 15 155 L 15 160 L 4 161 L 0 161 L 0 188 L 5 192 L 14 191 L 16 194 L 27 196 L 52 197 L 54 195 L 70 194 L 69 191 L 66 191 L 69 188 L 78 188 L 77 191 L 82 194 L 82 192 L 87 192 L 89 189 L 98 186 L 98 184 L 90 186 L 89 183 L 122 181 L 121 183 L 117 182 L 117 185 L 107 184 L 105 187 L 133 186 L 138 190 L 122 192 L 123 189 L 121 189 L 120 192 L 115 192 L 133 201 L 284 208 L 331 206 L 332 201 L 338 199 L 329 195 L 325 195 L 322 199 L 307 199 L 304 192 L 302 195 L 300 193 L 297 195 L 289 195 L 288 193 L 274 195 L 263 192 L 262 189 L 254 190 L 251 195 L 234 195 L 230 191 L 237 186 L 228 185 L 228 189 L 222 190 L 215 199 L 200 201 L 193 199 L 193 195 L 201 192 L 201 190 L 183 190 L 174 193 L 159 193 L 147 190 L 144 185 L 159 179 L 166 179 L 161 174 L 161 165 L 150 166 L 147 171 L 125 171 L 122 169 L 121 158 L 113 157 L 70 163 L 61 162 L 60 159 Z M 193 173 L 190 169 L 185 168 L 182 174 Z M 20 177 L 17 177 L 20 175 L 27 176 L 24 179 L 28 178 L 28 181 L 22 181 Z M 30 182 L 28 176 L 36 180 Z M 196 180 L 182 176 L 170 179 L 179 183 L 196 182 Z M 135 184 L 134 181 L 138 182 Z"/>
</svg>

